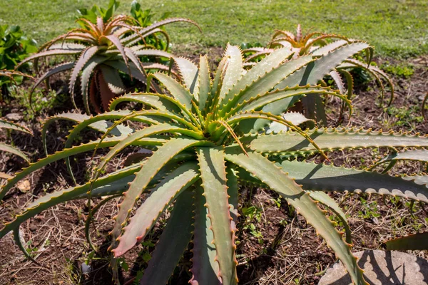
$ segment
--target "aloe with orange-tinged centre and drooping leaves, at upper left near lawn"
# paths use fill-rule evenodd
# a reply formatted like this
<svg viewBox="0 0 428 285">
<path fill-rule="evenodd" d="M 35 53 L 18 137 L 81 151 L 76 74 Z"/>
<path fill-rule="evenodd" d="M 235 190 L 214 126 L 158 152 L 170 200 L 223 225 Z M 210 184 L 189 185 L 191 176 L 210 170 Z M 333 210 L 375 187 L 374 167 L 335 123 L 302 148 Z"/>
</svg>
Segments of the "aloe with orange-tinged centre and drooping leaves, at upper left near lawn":
<svg viewBox="0 0 428 285">
<path fill-rule="evenodd" d="M 107 21 L 101 16 L 96 19 L 96 24 L 85 18 L 78 19 L 82 28 L 73 29 L 45 43 L 38 53 L 22 61 L 21 64 L 35 61 L 37 66 L 41 58 L 68 55 L 73 58 L 40 76 L 31 88 L 31 93 L 54 74 L 71 71 L 68 90 L 74 107 L 77 108 L 74 97 L 78 94 L 76 83 L 80 79 L 80 94 L 86 113 L 91 113 L 89 103 L 97 113 L 101 113 L 101 110 L 108 110 L 108 104 L 113 98 L 125 93 L 126 86 L 121 73 L 146 83 L 146 69 L 168 70 L 168 66 L 161 63 L 141 62 L 143 56 L 172 57 L 170 53 L 151 48 L 145 43 L 146 37 L 156 33 L 165 34 L 160 27 L 174 22 L 188 22 L 198 26 L 182 18 L 165 19 L 145 28 L 136 26 L 136 20 L 129 16 L 114 16 Z"/>
</svg>

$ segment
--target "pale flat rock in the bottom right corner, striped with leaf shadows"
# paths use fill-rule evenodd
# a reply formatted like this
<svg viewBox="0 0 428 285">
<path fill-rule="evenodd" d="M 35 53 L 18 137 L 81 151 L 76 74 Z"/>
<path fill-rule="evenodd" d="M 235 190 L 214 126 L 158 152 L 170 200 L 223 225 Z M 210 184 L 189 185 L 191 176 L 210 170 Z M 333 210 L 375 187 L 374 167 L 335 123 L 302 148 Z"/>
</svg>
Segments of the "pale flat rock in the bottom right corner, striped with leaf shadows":
<svg viewBox="0 0 428 285">
<path fill-rule="evenodd" d="M 365 250 L 357 252 L 358 265 L 364 269 L 367 282 L 372 285 L 426 285 L 428 261 L 404 252 Z M 327 269 L 318 285 L 350 285 L 352 281 L 341 262 Z"/>
</svg>

